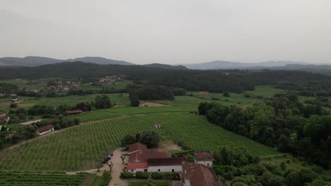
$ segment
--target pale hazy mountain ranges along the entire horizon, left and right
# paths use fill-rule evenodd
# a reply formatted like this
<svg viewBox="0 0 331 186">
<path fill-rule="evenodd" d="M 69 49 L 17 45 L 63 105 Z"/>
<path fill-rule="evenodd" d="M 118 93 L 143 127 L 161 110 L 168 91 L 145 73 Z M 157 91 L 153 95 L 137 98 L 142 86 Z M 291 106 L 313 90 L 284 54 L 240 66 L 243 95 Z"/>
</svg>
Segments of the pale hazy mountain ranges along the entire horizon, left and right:
<svg viewBox="0 0 331 186">
<path fill-rule="evenodd" d="M 81 61 L 86 63 L 95 63 L 99 65 L 123 65 L 123 66 L 136 66 L 135 63 L 127 61 L 118 61 L 110 58 L 102 57 L 82 57 L 82 58 L 69 58 L 69 59 L 56 59 L 46 58 L 40 56 L 26 56 L 24 58 L 16 57 L 4 57 L 0 58 L 0 66 L 42 66 L 54 63 L 74 62 Z M 217 69 L 240 69 L 240 70 L 304 70 L 313 73 L 330 73 L 331 66 L 329 65 L 313 65 L 303 62 L 293 61 L 269 61 L 260 63 L 241 63 L 230 61 L 211 61 L 207 63 L 194 63 L 194 64 L 182 64 L 178 66 L 172 66 L 160 63 L 151 63 L 143 65 L 149 68 L 167 68 L 167 69 L 193 69 L 193 70 L 217 70 Z"/>
</svg>

